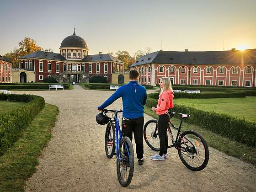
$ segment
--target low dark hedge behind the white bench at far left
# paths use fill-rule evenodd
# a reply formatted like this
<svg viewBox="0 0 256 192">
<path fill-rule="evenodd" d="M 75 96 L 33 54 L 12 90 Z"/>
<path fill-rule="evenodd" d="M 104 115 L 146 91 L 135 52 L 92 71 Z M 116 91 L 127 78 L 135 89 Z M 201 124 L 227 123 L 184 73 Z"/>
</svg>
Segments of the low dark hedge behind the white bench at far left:
<svg viewBox="0 0 256 192">
<path fill-rule="evenodd" d="M 16 84 L 16 85 L 10 85 L 10 84 L 5 84 L 5 85 L 0 85 L 0 89 L 6 89 L 6 90 L 13 90 L 13 89 L 49 89 L 50 84 Z M 69 89 L 69 84 L 63 84 L 64 89 Z"/>
</svg>

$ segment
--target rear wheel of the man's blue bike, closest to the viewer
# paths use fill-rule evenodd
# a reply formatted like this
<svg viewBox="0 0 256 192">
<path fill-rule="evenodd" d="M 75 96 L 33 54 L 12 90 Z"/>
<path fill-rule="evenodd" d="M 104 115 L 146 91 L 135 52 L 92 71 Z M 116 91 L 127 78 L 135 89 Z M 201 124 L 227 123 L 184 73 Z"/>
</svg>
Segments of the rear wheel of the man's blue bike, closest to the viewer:
<svg viewBox="0 0 256 192">
<path fill-rule="evenodd" d="M 117 178 L 121 186 L 127 187 L 133 178 L 134 152 L 133 144 L 128 137 L 120 141 L 120 161 L 117 159 Z"/>
</svg>

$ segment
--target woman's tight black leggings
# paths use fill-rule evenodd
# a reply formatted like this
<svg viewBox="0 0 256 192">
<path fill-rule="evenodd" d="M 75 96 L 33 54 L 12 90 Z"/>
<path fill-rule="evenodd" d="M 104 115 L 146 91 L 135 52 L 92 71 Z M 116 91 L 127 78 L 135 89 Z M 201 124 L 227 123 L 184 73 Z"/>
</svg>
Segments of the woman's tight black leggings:
<svg viewBox="0 0 256 192">
<path fill-rule="evenodd" d="M 159 115 L 159 119 L 157 122 L 158 136 L 160 139 L 160 152 L 159 155 L 163 156 L 163 154 L 167 153 L 168 147 L 168 138 L 167 138 L 167 125 L 170 121 L 169 113 L 164 115 Z"/>
</svg>

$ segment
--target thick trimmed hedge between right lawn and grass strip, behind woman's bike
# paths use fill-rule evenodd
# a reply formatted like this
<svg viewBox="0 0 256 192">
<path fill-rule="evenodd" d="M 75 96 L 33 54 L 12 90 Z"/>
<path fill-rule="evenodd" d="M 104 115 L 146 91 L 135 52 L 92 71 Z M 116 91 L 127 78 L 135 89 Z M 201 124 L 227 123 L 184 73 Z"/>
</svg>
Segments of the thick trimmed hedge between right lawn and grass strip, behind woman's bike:
<svg viewBox="0 0 256 192">
<path fill-rule="evenodd" d="M 146 106 L 157 106 L 157 100 L 148 98 Z M 238 119 L 217 112 L 205 112 L 193 107 L 174 104 L 174 112 L 190 114 L 186 122 L 208 129 L 213 133 L 236 140 L 249 146 L 256 146 L 256 123 Z"/>
</svg>

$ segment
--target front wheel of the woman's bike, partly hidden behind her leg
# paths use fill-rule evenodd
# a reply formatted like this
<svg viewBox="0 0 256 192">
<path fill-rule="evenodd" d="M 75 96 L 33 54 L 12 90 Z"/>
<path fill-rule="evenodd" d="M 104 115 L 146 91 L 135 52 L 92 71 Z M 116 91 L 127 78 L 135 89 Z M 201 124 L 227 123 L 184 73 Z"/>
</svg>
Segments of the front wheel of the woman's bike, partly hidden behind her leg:
<svg viewBox="0 0 256 192">
<path fill-rule="evenodd" d="M 160 150 L 160 140 L 157 137 L 154 137 L 153 134 L 155 132 L 155 127 L 157 126 L 157 120 L 151 119 L 147 123 L 145 123 L 143 128 L 143 136 L 146 144 L 153 150 Z"/>
</svg>

